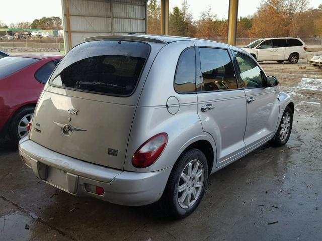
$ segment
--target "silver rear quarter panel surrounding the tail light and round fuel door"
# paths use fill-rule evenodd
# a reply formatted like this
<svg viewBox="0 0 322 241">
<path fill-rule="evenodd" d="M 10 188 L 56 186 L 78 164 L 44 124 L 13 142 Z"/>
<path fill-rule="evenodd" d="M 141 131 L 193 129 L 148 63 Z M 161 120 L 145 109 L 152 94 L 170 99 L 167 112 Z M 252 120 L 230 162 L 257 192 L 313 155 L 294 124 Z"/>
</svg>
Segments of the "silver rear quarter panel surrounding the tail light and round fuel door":
<svg viewBox="0 0 322 241">
<path fill-rule="evenodd" d="M 135 112 L 124 170 L 152 172 L 171 167 L 185 148 L 198 140 L 209 141 L 216 156 L 214 141 L 209 134 L 203 132 L 197 114 L 197 94 L 179 94 L 174 89 L 179 56 L 189 47 L 194 47 L 193 41 L 173 42 L 166 45 L 156 56 Z M 179 100 L 180 107 L 176 114 L 171 114 L 167 109 L 170 96 Z M 146 140 L 162 132 L 168 134 L 168 143 L 160 157 L 147 168 L 133 167 L 131 161 L 135 151 Z"/>
</svg>

